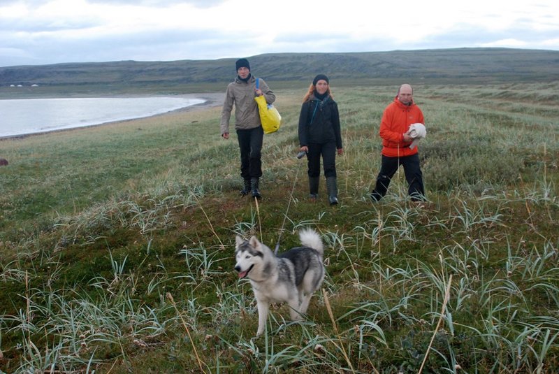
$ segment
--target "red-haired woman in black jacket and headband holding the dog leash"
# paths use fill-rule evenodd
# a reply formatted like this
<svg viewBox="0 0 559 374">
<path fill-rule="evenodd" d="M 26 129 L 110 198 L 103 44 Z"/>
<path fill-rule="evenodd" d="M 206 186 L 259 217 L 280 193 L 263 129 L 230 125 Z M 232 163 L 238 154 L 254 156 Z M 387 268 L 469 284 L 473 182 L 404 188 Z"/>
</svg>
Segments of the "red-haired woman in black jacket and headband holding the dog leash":
<svg viewBox="0 0 559 374">
<path fill-rule="evenodd" d="M 299 115 L 300 150 L 307 153 L 310 198 L 319 194 L 320 157 L 326 177 L 330 205 L 337 204 L 336 152 L 343 154 L 340 113 L 330 92 L 330 81 L 324 74 L 314 77 L 303 99 Z"/>
</svg>

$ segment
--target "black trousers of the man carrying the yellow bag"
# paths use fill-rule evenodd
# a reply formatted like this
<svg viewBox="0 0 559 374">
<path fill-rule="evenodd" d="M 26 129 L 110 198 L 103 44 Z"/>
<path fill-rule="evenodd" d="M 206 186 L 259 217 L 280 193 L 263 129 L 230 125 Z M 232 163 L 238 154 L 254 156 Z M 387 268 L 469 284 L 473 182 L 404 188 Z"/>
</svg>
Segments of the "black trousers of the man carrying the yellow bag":
<svg viewBox="0 0 559 374">
<path fill-rule="evenodd" d="M 237 130 L 240 148 L 240 176 L 244 180 L 262 176 L 262 142 L 264 130 L 261 126 L 248 130 Z"/>
</svg>

